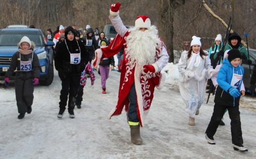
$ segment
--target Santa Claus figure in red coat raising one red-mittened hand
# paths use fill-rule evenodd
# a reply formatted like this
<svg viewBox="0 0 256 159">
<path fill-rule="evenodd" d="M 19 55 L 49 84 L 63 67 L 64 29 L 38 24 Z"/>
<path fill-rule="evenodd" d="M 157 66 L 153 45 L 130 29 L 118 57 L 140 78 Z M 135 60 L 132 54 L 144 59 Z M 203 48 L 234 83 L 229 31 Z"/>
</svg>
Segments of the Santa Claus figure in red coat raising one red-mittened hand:
<svg viewBox="0 0 256 159">
<path fill-rule="evenodd" d="M 155 87 L 163 87 L 165 76 L 160 71 L 169 56 L 157 28 L 151 26 L 150 18 L 140 15 L 135 27 L 127 29 L 119 16 L 120 6 L 119 3 L 112 5 L 109 16 L 118 34 L 109 47 L 95 51 L 96 58 L 92 63 L 97 66 L 101 59 L 114 56 L 124 46 L 118 101 L 108 118 L 120 115 L 125 106 L 132 143 L 142 144 L 139 128 L 144 126 Z"/>
</svg>

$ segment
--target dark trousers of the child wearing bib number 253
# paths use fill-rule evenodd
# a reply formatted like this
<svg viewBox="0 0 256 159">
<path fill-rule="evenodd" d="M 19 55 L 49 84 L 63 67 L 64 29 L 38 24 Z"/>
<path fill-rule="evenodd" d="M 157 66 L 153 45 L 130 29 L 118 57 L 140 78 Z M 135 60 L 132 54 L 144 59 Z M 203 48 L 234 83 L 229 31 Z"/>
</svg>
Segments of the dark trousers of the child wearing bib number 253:
<svg viewBox="0 0 256 159">
<path fill-rule="evenodd" d="M 34 99 L 34 85 L 32 73 L 18 73 L 15 77 L 15 95 L 18 113 L 25 113 L 32 106 Z"/>
</svg>

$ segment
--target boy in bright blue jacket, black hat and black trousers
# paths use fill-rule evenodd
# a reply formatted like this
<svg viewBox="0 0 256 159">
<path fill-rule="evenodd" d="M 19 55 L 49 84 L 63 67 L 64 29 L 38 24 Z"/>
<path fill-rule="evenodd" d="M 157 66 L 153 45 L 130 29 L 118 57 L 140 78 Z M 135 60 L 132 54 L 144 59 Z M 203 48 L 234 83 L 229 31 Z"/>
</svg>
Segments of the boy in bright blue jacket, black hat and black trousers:
<svg viewBox="0 0 256 159">
<path fill-rule="evenodd" d="M 209 144 L 216 144 L 214 134 L 217 131 L 225 109 L 227 109 L 229 118 L 231 119 L 230 125 L 233 149 L 244 152 L 248 151 L 248 149 L 243 146 L 239 111 L 241 94 L 242 96 L 245 95 L 244 91 L 241 91 L 241 93 L 239 91 L 244 75 L 244 68 L 240 65 L 240 61 L 241 54 L 237 49 L 230 50 L 228 52 L 228 58 L 223 61 L 223 65 L 217 77 L 219 86 L 216 89 L 214 112 L 212 113 L 210 123 L 205 131 L 205 138 Z"/>
</svg>

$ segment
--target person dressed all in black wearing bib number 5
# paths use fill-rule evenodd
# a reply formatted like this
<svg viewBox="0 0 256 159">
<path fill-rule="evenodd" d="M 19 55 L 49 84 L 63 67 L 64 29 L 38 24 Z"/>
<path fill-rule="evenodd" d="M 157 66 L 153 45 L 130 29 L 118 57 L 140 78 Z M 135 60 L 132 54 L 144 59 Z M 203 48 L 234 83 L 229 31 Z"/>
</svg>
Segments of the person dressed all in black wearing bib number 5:
<svg viewBox="0 0 256 159">
<path fill-rule="evenodd" d="M 65 40 L 59 43 L 54 57 L 55 68 L 61 80 L 58 118 L 61 119 L 68 101 L 70 118 L 75 118 L 75 96 L 79 87 L 84 64 L 88 63 L 89 54 L 81 41 L 75 39 L 75 30 L 69 26 L 65 30 Z"/>
</svg>

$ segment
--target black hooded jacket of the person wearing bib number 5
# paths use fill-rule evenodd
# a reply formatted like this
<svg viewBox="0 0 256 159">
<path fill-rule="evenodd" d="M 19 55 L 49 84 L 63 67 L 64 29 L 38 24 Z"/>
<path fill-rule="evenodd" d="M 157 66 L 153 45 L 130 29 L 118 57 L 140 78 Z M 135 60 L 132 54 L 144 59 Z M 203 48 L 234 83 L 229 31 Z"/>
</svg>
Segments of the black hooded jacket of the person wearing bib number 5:
<svg viewBox="0 0 256 159">
<path fill-rule="evenodd" d="M 74 39 L 70 41 L 67 38 L 68 32 L 74 33 Z M 80 63 L 71 64 L 70 54 L 80 53 Z M 89 54 L 85 49 L 81 41 L 75 39 L 75 30 L 69 26 L 65 30 L 65 40 L 59 43 L 58 50 L 54 56 L 54 64 L 57 71 L 63 70 L 65 73 L 69 74 L 80 74 L 84 70 L 84 64 L 89 61 Z"/>
</svg>

